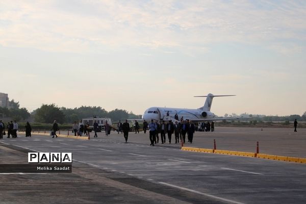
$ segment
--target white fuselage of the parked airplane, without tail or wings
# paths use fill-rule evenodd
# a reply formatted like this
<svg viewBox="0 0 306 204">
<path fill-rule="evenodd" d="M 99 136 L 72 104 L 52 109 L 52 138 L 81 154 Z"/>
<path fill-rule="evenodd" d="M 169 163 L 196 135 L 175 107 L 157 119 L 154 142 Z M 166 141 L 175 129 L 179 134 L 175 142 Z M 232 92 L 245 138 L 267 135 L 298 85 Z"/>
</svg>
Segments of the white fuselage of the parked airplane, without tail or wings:
<svg viewBox="0 0 306 204">
<path fill-rule="evenodd" d="M 150 121 L 151 119 L 161 121 L 167 116 L 169 112 L 169 117 L 174 118 L 174 115 L 177 114 L 179 120 L 183 117 L 184 120 L 199 120 L 199 119 L 213 119 L 215 114 L 210 111 L 203 111 L 200 109 L 182 109 L 182 108 L 162 108 L 162 107 L 151 107 L 145 110 L 142 115 L 142 119 Z M 206 117 L 202 116 L 202 113 L 206 112 Z M 165 119 L 168 120 L 168 119 Z"/>
</svg>

